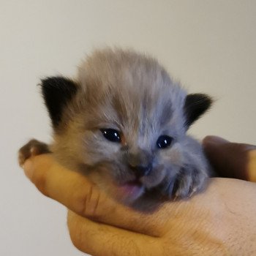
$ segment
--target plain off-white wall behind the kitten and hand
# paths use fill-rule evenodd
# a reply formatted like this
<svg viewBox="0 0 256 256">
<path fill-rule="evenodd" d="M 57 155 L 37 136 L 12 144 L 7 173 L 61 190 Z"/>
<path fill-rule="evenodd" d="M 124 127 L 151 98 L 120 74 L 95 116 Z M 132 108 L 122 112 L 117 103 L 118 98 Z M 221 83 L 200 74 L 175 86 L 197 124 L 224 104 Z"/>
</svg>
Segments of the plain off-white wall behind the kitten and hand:
<svg viewBox="0 0 256 256">
<path fill-rule="evenodd" d="M 72 246 L 66 209 L 37 192 L 17 164 L 29 138 L 50 141 L 37 84 L 76 74 L 106 45 L 157 57 L 212 110 L 190 132 L 256 144 L 256 1 L 0 1 L 0 255 L 83 255 Z"/>
</svg>

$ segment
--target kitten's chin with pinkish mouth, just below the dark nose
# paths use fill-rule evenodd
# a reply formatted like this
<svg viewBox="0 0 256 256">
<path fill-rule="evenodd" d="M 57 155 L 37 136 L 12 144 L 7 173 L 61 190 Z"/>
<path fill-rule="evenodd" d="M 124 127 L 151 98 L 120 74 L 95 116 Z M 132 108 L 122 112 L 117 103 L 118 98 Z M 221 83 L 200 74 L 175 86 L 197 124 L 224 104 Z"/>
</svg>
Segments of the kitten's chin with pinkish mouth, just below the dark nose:
<svg viewBox="0 0 256 256">
<path fill-rule="evenodd" d="M 117 186 L 115 190 L 114 197 L 123 203 L 129 204 L 141 197 L 145 191 L 145 188 L 141 183 L 130 181 Z"/>
</svg>

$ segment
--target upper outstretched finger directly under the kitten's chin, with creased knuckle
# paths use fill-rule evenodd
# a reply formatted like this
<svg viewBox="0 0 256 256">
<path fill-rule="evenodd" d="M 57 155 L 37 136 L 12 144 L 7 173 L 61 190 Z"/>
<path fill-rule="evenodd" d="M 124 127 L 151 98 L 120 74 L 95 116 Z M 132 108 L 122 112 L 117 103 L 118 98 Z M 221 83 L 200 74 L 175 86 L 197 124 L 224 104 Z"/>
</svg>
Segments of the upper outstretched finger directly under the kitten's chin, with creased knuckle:
<svg viewBox="0 0 256 256">
<path fill-rule="evenodd" d="M 80 173 L 59 165 L 50 154 L 26 160 L 24 170 L 40 192 L 83 217 L 152 236 L 165 233 L 168 211 L 141 213 L 110 199 Z M 176 208 L 176 203 L 173 203 Z M 164 228 L 163 228 L 164 227 Z"/>
</svg>

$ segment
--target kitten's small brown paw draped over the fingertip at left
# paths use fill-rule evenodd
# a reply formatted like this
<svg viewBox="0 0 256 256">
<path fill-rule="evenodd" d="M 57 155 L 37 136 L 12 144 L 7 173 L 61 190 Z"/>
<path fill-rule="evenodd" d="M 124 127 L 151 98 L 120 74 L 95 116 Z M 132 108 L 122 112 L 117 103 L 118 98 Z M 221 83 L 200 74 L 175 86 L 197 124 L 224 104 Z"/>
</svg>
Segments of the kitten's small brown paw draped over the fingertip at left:
<svg viewBox="0 0 256 256">
<path fill-rule="evenodd" d="M 26 159 L 29 157 L 34 157 L 39 154 L 50 153 L 50 149 L 46 143 L 42 143 L 38 140 L 29 140 L 26 145 L 24 145 L 18 151 L 18 162 L 19 165 L 22 166 Z"/>
</svg>

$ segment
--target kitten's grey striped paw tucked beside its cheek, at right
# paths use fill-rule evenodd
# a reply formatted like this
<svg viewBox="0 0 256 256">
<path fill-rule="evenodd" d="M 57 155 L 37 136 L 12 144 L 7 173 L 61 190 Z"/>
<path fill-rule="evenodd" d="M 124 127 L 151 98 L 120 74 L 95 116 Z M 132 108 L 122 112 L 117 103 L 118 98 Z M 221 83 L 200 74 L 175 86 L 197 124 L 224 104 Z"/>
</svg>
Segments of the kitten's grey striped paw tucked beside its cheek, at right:
<svg viewBox="0 0 256 256">
<path fill-rule="evenodd" d="M 205 187 L 207 178 L 206 171 L 181 170 L 173 186 L 173 199 L 192 197 Z"/>
</svg>

